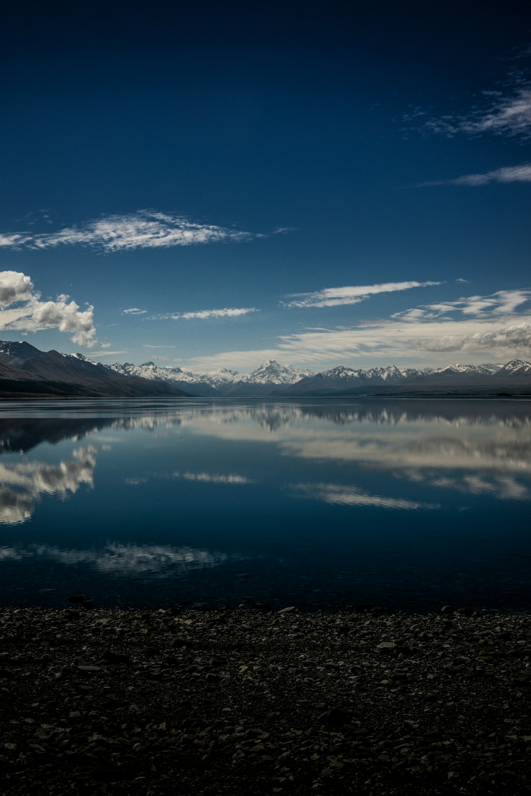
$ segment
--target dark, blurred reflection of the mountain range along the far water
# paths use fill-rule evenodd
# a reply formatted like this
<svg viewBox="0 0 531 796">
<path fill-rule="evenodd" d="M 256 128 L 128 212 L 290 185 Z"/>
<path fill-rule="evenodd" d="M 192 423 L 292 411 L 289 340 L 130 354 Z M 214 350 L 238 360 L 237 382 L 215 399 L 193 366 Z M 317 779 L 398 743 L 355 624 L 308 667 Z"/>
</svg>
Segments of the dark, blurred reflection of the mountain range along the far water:
<svg viewBox="0 0 531 796">
<path fill-rule="evenodd" d="M 264 401 L 240 404 L 218 404 L 194 401 L 187 407 L 160 402 L 155 407 L 138 408 L 134 400 L 115 408 L 123 412 L 112 416 L 107 406 L 107 416 L 98 416 L 105 404 L 90 405 L 84 416 L 14 417 L 0 420 L 0 454 L 25 453 L 41 443 L 52 445 L 61 439 L 84 439 L 95 431 L 111 428 L 115 431 L 193 426 L 198 420 L 208 420 L 213 425 L 226 423 L 256 423 L 271 432 L 286 426 L 302 425 L 312 420 L 337 425 L 378 423 L 400 425 L 404 423 L 447 423 L 453 426 L 493 426 L 514 428 L 531 427 L 531 402 L 525 400 L 330 400 L 319 401 Z M 127 412 L 129 408 L 130 412 Z M 135 413 L 133 413 L 135 412 Z"/>
</svg>

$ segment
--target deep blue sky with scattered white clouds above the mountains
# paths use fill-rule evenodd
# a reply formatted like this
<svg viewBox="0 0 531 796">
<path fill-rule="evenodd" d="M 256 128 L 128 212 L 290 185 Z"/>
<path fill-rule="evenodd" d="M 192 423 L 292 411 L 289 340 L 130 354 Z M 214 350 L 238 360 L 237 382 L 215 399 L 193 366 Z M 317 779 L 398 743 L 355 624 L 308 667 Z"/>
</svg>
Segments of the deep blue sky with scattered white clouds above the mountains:
<svg viewBox="0 0 531 796">
<path fill-rule="evenodd" d="M 6 12 L 0 335 L 252 370 L 531 357 L 531 12 Z"/>
</svg>

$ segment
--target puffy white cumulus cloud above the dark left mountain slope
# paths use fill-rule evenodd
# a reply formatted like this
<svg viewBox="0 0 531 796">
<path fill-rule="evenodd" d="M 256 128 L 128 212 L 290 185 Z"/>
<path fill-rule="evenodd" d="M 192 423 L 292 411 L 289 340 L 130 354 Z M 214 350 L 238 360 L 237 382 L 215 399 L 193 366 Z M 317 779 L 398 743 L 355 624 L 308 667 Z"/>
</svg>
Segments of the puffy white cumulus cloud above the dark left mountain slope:
<svg viewBox="0 0 531 796">
<path fill-rule="evenodd" d="M 68 295 L 41 301 L 29 276 L 18 271 L 0 271 L 0 329 L 37 332 L 55 328 L 72 334 L 72 342 L 92 348 L 96 340 L 94 307 L 80 310 Z"/>
</svg>

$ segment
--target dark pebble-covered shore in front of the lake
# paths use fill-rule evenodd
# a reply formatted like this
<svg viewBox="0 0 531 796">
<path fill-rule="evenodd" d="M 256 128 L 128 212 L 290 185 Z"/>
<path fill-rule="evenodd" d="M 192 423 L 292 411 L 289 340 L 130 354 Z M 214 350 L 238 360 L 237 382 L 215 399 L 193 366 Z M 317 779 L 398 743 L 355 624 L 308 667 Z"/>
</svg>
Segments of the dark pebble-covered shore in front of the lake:
<svg viewBox="0 0 531 796">
<path fill-rule="evenodd" d="M 0 609 L 1 794 L 529 794 L 531 617 Z"/>
</svg>

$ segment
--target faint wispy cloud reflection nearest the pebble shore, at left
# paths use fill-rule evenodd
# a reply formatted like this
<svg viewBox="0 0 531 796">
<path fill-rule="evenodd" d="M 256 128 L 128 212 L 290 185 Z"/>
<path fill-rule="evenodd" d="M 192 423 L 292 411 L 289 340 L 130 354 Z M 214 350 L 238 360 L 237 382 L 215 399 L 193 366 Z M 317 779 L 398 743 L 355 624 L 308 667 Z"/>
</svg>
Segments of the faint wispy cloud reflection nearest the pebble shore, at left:
<svg viewBox="0 0 531 796">
<path fill-rule="evenodd" d="M 36 558 L 56 561 L 65 566 L 88 565 L 98 572 L 127 576 L 155 572 L 158 577 L 170 577 L 194 569 L 219 567 L 243 560 L 239 554 L 211 552 L 165 544 L 119 544 L 110 542 L 100 549 L 75 550 L 49 544 L 29 548 L 0 548 L 0 561 Z"/>
</svg>

